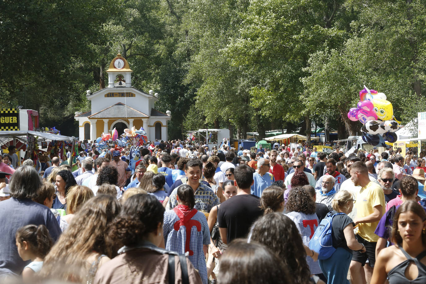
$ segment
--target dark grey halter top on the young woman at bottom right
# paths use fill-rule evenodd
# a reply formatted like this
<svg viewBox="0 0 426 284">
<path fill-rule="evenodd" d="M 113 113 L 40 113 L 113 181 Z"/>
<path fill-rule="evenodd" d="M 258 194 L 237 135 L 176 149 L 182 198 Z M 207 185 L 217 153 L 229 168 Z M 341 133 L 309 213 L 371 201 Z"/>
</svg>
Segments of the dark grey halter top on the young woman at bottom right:
<svg viewBox="0 0 426 284">
<path fill-rule="evenodd" d="M 426 265 L 420 262 L 422 258 L 426 256 L 426 250 L 420 252 L 416 258 L 412 258 L 402 247 L 398 246 L 400 250 L 403 252 L 406 261 L 401 262 L 397 266 L 391 269 L 388 273 L 389 284 L 425 284 L 426 283 Z M 417 278 L 413 280 L 408 280 L 405 277 L 405 270 L 409 266 L 410 262 L 413 261 L 417 266 L 417 270 L 419 270 L 419 274 Z"/>
</svg>

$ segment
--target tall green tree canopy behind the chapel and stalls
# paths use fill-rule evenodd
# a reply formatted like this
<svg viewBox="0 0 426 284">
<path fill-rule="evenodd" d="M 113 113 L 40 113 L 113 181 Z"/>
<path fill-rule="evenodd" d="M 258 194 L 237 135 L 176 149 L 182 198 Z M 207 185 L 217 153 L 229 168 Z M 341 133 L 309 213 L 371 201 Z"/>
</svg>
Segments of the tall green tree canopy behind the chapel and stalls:
<svg viewBox="0 0 426 284">
<path fill-rule="evenodd" d="M 5 0 L 0 107 L 60 125 L 89 110 L 121 52 L 133 84 L 172 112 L 169 138 L 196 128 L 355 134 L 346 114 L 363 85 L 407 123 L 424 111 L 422 0 Z M 66 134 L 76 130 L 69 127 Z"/>
</svg>

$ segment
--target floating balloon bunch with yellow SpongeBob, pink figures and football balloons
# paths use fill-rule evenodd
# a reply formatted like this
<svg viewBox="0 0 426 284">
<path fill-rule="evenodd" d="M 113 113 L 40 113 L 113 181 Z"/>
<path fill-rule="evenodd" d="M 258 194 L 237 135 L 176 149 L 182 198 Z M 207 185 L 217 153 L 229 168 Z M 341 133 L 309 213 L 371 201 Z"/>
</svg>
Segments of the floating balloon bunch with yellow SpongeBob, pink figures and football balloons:
<svg viewBox="0 0 426 284">
<path fill-rule="evenodd" d="M 360 91 L 357 107 L 349 109 L 348 118 L 363 123 L 363 140 L 373 146 L 387 147 L 385 141 L 394 143 L 397 141 L 394 132 L 403 127 L 395 119 L 392 104 L 386 100 L 386 95 L 369 90 L 366 86 Z"/>
</svg>

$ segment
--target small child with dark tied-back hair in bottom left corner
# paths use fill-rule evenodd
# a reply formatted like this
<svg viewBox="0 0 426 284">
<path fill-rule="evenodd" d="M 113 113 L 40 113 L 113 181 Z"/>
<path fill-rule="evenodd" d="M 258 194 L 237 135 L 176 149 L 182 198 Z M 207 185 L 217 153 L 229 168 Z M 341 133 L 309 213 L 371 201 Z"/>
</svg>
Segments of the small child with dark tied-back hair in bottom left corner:
<svg viewBox="0 0 426 284">
<path fill-rule="evenodd" d="M 22 278 L 24 282 L 32 282 L 33 275 L 41 270 L 43 258 L 53 245 L 49 230 L 44 225 L 27 225 L 16 231 L 16 246 L 19 256 L 31 263 L 24 267 Z"/>
</svg>

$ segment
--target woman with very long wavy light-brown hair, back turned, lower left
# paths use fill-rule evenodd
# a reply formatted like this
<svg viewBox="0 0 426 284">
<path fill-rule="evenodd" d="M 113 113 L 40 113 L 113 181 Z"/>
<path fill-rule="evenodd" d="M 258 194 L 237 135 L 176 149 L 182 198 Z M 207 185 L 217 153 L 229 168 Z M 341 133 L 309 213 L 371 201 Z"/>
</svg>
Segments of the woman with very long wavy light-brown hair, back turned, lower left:
<svg viewBox="0 0 426 284">
<path fill-rule="evenodd" d="M 52 281 L 92 283 L 98 267 L 115 254 L 108 228 L 120 209 L 111 195 L 87 201 L 46 255 L 40 276 Z"/>
</svg>

